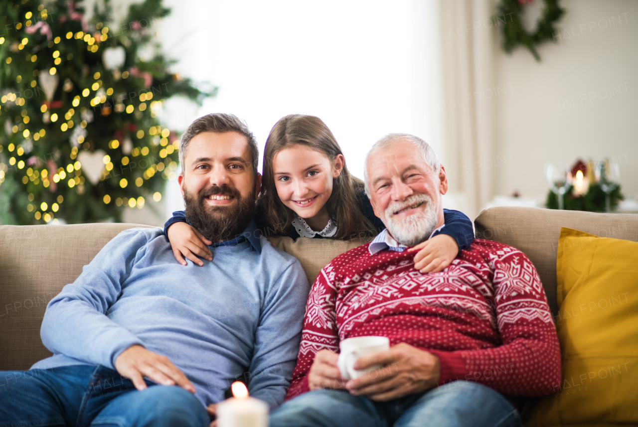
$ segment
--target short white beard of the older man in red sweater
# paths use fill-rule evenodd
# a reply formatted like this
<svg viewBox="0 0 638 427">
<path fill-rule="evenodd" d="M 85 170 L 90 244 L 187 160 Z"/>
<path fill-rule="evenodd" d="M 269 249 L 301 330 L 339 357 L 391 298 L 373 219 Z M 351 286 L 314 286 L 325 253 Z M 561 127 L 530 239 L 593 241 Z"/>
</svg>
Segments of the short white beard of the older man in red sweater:
<svg viewBox="0 0 638 427">
<path fill-rule="evenodd" d="M 403 210 L 408 206 L 418 203 L 426 203 L 425 210 L 420 210 L 404 219 L 395 219 L 394 212 Z M 433 205 L 432 199 L 427 194 L 413 194 L 403 202 L 394 202 L 385 210 L 385 226 L 397 242 L 414 246 L 423 242 L 434 231 L 437 222 L 438 210 Z"/>
</svg>

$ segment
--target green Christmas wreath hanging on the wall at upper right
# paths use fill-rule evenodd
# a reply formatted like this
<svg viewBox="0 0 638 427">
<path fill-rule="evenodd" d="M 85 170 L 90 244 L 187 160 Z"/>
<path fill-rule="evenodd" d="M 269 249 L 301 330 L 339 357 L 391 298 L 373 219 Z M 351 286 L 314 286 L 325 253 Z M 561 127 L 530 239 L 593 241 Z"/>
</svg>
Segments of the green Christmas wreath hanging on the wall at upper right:
<svg viewBox="0 0 638 427">
<path fill-rule="evenodd" d="M 545 8 L 536 25 L 533 33 L 528 33 L 521 22 L 521 12 L 525 3 L 532 3 L 533 0 L 502 0 L 498 4 L 497 17 L 494 22 L 502 22 L 503 25 L 503 50 L 510 54 L 519 45 L 522 45 L 534 55 L 537 61 L 540 56 L 535 46 L 546 40 L 554 40 L 554 23 L 560 20 L 565 10 L 558 5 L 558 0 L 544 0 Z"/>
</svg>

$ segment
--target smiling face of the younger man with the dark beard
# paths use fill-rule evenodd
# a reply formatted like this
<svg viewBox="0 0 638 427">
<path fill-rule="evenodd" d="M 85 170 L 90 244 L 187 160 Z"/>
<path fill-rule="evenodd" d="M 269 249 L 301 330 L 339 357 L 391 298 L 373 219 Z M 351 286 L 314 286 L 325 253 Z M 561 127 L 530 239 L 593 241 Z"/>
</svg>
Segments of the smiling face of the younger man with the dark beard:
<svg viewBox="0 0 638 427">
<path fill-rule="evenodd" d="M 179 187 L 186 218 L 206 238 L 228 240 L 248 226 L 261 185 L 252 162 L 237 132 L 202 132 L 189 141 Z"/>
</svg>

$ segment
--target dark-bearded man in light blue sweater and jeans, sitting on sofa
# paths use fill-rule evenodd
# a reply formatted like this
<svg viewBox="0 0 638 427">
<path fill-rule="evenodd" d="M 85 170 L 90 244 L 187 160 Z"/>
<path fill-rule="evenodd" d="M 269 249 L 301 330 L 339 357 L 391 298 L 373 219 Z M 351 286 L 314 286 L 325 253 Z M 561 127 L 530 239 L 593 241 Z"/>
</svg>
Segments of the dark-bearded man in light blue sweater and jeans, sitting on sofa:
<svg viewBox="0 0 638 427">
<path fill-rule="evenodd" d="M 117 235 L 48 304 L 41 337 L 54 356 L 0 373 L 0 426 L 205 427 L 246 372 L 252 396 L 283 401 L 308 280 L 252 221 L 255 138 L 210 114 L 179 149 L 188 219 L 213 259 L 182 266 L 160 228 Z"/>
</svg>

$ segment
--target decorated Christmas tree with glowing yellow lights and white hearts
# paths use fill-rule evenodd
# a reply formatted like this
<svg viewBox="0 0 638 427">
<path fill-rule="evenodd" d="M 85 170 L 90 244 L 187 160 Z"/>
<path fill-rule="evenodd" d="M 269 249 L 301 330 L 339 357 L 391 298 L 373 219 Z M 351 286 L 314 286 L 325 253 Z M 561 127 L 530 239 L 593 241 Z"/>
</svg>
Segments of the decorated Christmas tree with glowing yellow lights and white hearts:
<svg viewBox="0 0 638 427">
<path fill-rule="evenodd" d="M 146 0 L 113 25 L 108 0 L 89 21 L 79 1 L 3 3 L 1 223 L 120 221 L 159 201 L 178 161 L 166 99 L 216 91 L 169 71 L 151 28 L 170 10 Z"/>
</svg>

